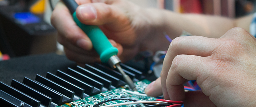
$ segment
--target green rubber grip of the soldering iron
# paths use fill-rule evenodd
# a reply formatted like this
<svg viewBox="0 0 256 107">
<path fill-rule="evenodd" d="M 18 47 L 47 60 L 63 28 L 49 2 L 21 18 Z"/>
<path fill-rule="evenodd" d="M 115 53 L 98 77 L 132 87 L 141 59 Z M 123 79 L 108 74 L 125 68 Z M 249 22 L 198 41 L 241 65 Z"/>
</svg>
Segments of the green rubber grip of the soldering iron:
<svg viewBox="0 0 256 107">
<path fill-rule="evenodd" d="M 100 55 L 101 62 L 107 63 L 111 56 L 117 55 L 117 48 L 112 46 L 106 35 L 98 26 L 85 25 L 81 23 L 76 17 L 76 12 L 73 13 L 73 18 L 77 26 L 79 26 L 91 39 L 92 46 Z"/>
</svg>

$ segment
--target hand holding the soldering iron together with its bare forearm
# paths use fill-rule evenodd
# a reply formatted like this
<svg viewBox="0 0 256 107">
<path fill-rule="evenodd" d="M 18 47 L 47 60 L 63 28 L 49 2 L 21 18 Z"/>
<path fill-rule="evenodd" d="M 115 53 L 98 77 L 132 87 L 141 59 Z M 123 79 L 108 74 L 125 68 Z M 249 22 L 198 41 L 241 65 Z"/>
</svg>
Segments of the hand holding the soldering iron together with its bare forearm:
<svg viewBox="0 0 256 107">
<path fill-rule="evenodd" d="M 76 9 L 77 18 L 84 24 L 98 25 L 112 45 L 117 47 L 118 56 L 123 62 L 132 59 L 140 51 L 167 50 L 170 42 L 163 32 L 172 39 L 178 37 L 183 30 L 194 35 L 219 38 L 239 25 L 234 19 L 141 8 L 125 0 L 76 2 L 80 5 Z M 81 64 L 100 62 L 92 42 L 76 26 L 71 13 L 62 2 L 54 8 L 51 23 L 58 31 L 57 40 L 64 46 L 68 59 Z"/>
</svg>

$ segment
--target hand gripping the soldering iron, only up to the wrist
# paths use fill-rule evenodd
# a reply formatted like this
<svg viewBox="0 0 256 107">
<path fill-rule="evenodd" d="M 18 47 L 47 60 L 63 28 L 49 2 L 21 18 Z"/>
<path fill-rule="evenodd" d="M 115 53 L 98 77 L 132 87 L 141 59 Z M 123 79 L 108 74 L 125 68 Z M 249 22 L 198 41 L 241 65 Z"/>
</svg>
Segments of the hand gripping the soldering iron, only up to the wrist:
<svg viewBox="0 0 256 107">
<path fill-rule="evenodd" d="M 86 25 L 97 25 L 116 47 L 122 61 L 133 58 L 140 43 L 149 35 L 149 19 L 139 6 L 124 0 L 76 0 L 76 16 Z M 92 2 L 92 3 L 91 3 Z M 78 63 L 99 62 L 89 37 L 76 25 L 68 8 L 59 2 L 51 17 L 58 31 L 57 40 L 66 56 Z M 122 54 L 123 53 L 123 54 Z M 122 56 L 120 56 L 122 54 Z"/>
</svg>

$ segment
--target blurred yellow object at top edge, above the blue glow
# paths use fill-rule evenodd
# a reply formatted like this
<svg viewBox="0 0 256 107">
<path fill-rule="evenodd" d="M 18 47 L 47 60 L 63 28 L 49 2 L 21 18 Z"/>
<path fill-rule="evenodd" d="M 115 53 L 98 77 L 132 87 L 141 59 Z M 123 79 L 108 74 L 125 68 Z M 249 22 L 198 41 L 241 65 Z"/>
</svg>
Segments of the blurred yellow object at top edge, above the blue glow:
<svg viewBox="0 0 256 107">
<path fill-rule="evenodd" d="M 35 14 L 44 13 L 45 0 L 38 0 L 35 4 L 30 7 L 30 12 Z"/>
</svg>

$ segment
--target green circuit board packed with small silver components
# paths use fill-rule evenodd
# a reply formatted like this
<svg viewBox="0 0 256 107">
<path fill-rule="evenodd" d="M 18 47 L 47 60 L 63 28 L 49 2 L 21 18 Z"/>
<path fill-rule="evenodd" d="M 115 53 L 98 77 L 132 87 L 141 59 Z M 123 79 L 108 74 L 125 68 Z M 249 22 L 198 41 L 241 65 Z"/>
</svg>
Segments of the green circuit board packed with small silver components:
<svg viewBox="0 0 256 107">
<path fill-rule="evenodd" d="M 144 89 L 148 86 L 149 83 L 150 83 L 149 80 L 142 80 L 142 81 L 136 82 L 135 86 L 138 92 L 145 93 Z M 112 89 L 106 92 L 102 92 L 94 96 L 81 98 L 79 100 L 76 100 L 70 103 L 65 103 L 57 107 L 92 107 L 97 103 L 100 103 L 102 101 L 112 99 L 112 98 L 131 98 L 131 99 L 140 100 L 140 101 L 156 100 L 155 97 L 134 95 L 134 94 L 127 93 L 125 90 L 128 90 L 127 85 L 122 86 L 120 88 Z M 126 101 L 119 101 L 119 100 L 110 101 L 107 103 L 103 103 L 100 106 L 117 104 L 117 103 L 126 103 L 126 102 L 130 102 L 130 101 L 127 101 L 127 100 Z M 143 104 L 131 104 L 131 105 L 123 105 L 123 106 L 117 106 L 117 107 L 145 107 L 145 106 Z"/>
</svg>

